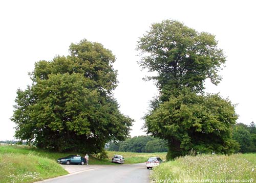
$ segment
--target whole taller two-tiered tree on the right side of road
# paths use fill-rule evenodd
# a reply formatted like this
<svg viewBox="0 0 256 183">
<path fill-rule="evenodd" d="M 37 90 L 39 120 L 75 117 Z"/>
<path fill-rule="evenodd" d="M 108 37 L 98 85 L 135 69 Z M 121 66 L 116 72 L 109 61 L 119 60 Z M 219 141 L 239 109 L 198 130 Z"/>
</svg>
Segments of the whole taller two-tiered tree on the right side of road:
<svg viewBox="0 0 256 183">
<path fill-rule="evenodd" d="M 218 95 L 205 95 L 204 82 L 217 85 L 225 63 L 215 36 L 199 33 L 175 20 L 152 24 L 140 38 L 140 66 L 152 72 L 159 96 L 146 114 L 147 133 L 168 141 L 168 159 L 196 150 L 232 152 L 230 127 L 234 106 Z"/>
</svg>

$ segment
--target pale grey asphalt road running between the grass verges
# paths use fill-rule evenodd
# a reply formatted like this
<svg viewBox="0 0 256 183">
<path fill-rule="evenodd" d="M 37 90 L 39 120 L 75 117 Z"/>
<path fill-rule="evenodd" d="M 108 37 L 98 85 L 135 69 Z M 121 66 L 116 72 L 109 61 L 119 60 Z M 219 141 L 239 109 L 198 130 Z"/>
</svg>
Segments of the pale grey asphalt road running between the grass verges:
<svg viewBox="0 0 256 183">
<path fill-rule="evenodd" d="M 39 182 L 47 183 L 143 183 L 150 182 L 149 174 L 145 163 L 133 165 L 62 165 L 69 175 L 52 178 Z M 39 183 L 38 182 L 38 183 Z"/>
</svg>

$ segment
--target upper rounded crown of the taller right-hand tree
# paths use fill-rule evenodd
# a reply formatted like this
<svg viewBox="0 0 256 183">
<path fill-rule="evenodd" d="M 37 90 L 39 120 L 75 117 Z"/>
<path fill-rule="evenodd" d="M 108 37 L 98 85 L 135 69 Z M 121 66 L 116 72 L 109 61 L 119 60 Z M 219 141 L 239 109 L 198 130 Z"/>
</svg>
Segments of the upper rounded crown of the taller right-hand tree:
<svg viewBox="0 0 256 183">
<path fill-rule="evenodd" d="M 166 94 L 184 87 L 201 92 L 207 78 L 217 85 L 221 80 L 217 73 L 226 61 L 214 35 L 198 33 L 174 20 L 153 24 L 137 49 L 142 53 L 140 66 L 157 72 L 146 79 L 155 80 Z"/>
</svg>

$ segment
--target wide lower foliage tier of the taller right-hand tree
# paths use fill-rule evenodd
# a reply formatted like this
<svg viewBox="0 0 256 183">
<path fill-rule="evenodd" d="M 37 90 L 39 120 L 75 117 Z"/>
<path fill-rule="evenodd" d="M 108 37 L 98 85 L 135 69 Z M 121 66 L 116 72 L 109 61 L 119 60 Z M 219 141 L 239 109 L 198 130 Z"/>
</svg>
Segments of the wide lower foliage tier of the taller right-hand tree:
<svg viewBox="0 0 256 183">
<path fill-rule="evenodd" d="M 197 95 L 183 91 L 170 97 L 145 116 L 148 133 L 169 143 L 168 158 L 185 155 L 191 149 L 231 153 L 236 142 L 230 126 L 237 115 L 228 99 L 216 95 Z"/>
</svg>

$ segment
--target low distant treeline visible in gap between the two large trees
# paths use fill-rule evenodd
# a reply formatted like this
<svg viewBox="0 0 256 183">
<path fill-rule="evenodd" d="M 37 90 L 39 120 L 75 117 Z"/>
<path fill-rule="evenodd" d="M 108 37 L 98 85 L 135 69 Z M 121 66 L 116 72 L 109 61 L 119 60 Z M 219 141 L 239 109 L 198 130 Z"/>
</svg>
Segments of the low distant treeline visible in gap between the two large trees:
<svg viewBox="0 0 256 183">
<path fill-rule="evenodd" d="M 152 136 L 136 136 L 123 142 L 111 142 L 106 149 L 123 152 L 167 152 L 167 145 L 164 140 Z"/>
</svg>

